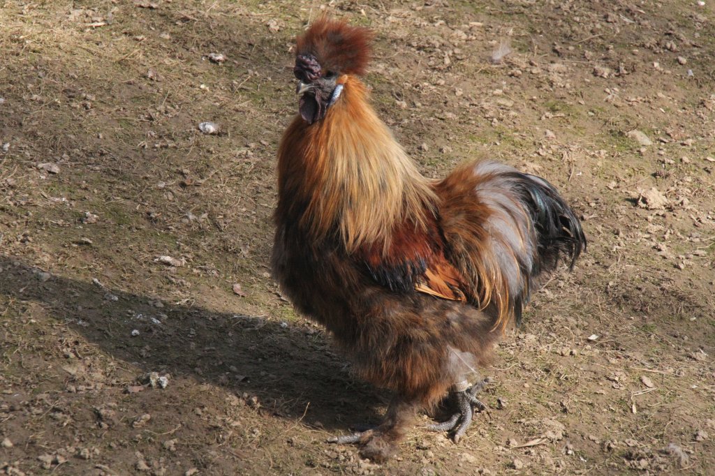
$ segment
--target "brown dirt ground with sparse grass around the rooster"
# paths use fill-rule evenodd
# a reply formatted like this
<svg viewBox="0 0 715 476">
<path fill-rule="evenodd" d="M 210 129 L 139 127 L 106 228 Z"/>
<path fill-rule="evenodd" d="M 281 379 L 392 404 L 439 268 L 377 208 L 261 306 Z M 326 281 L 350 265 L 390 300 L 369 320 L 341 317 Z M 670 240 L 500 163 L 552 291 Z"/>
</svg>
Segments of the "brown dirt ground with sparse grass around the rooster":
<svg viewBox="0 0 715 476">
<path fill-rule="evenodd" d="M 0 0 L 0 474 L 715 474 L 712 5 Z M 541 174 L 589 239 L 468 435 L 421 417 L 385 465 L 325 443 L 388 395 L 267 265 L 324 9 L 375 29 L 365 81 L 423 173 Z"/>
</svg>

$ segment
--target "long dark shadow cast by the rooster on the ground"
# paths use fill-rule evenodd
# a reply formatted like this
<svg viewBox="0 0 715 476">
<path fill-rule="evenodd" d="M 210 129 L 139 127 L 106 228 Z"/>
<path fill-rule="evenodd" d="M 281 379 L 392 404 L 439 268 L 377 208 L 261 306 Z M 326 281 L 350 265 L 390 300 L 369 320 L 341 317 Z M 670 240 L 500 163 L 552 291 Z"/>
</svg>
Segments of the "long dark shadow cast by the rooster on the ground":
<svg viewBox="0 0 715 476">
<path fill-rule="evenodd" d="M 225 314 L 109 289 L 30 267 L 0 255 L 0 295 L 35 302 L 112 357 L 144 372 L 169 372 L 257 395 L 262 407 L 287 418 L 320 420 L 328 430 L 377 421 L 380 400 L 352 379 L 320 332 L 263 317 Z M 134 335 L 133 335 L 134 334 Z"/>
</svg>

